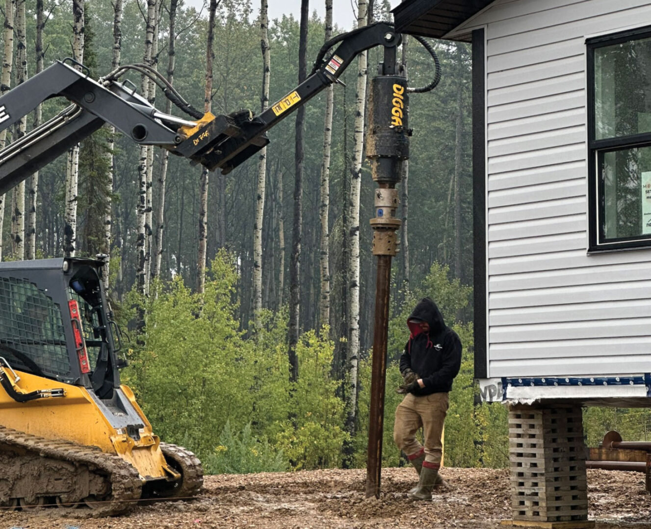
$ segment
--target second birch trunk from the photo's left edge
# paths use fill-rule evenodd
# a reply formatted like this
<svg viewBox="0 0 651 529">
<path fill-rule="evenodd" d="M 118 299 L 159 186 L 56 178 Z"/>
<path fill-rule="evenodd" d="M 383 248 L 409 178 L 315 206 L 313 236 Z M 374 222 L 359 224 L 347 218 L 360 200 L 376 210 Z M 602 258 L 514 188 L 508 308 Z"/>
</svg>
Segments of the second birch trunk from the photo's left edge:
<svg viewBox="0 0 651 529">
<path fill-rule="evenodd" d="M 27 37 L 25 35 L 25 0 L 16 0 L 16 84 L 27 80 Z M 27 116 L 16 123 L 16 140 L 25 136 Z M 14 187 L 11 213 L 11 240 L 14 259 L 25 259 L 25 181 Z"/>
</svg>

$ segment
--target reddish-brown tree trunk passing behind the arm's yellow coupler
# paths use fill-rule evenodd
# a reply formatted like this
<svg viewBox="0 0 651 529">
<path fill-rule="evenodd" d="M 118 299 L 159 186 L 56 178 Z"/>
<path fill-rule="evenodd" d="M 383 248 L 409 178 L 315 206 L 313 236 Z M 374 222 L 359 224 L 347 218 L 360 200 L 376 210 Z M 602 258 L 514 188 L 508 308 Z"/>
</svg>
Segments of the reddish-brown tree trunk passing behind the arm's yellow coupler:
<svg viewBox="0 0 651 529">
<path fill-rule="evenodd" d="M 210 112 L 212 102 L 212 63 L 215 59 L 215 11 L 217 0 L 210 0 L 208 13 L 208 44 L 206 45 L 206 88 L 204 91 L 204 112 Z M 203 294 L 206 287 L 206 248 L 208 244 L 208 169 L 201 172 L 201 194 L 199 196 L 199 252 L 197 255 L 197 292 Z"/>
</svg>

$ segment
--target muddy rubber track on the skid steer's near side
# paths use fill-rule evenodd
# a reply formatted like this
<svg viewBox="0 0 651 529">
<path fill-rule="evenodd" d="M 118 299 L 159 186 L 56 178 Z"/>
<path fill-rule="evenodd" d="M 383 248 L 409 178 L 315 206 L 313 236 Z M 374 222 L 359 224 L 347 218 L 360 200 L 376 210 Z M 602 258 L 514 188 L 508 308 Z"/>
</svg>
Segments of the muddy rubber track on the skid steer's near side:
<svg viewBox="0 0 651 529">
<path fill-rule="evenodd" d="M 70 461 L 76 465 L 88 465 L 89 471 L 96 467 L 111 480 L 111 496 L 92 509 L 66 510 L 68 517 L 100 517 L 125 513 L 141 496 L 142 482 L 138 472 L 124 459 L 115 454 L 105 454 L 96 446 L 82 446 L 70 441 L 50 441 L 43 437 L 17 432 L 0 426 L 0 443 L 22 446 L 41 456 Z"/>
</svg>

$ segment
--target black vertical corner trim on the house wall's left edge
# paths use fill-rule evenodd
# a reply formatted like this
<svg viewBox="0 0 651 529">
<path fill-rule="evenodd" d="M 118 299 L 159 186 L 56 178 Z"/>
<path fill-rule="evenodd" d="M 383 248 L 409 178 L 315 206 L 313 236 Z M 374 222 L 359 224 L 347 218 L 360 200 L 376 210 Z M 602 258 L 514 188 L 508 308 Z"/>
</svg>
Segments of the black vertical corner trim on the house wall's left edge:
<svg viewBox="0 0 651 529">
<path fill-rule="evenodd" d="M 486 75 L 484 29 L 473 31 L 473 303 L 475 378 L 488 377 L 486 342 Z"/>
</svg>

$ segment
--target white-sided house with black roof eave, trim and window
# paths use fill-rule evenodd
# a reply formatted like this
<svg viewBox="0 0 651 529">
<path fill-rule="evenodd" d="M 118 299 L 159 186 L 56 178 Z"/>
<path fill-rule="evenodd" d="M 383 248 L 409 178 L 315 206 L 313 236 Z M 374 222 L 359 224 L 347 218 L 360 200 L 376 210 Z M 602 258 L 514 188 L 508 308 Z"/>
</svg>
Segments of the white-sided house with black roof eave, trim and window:
<svg viewBox="0 0 651 529">
<path fill-rule="evenodd" d="M 398 31 L 473 46 L 482 396 L 649 406 L 651 1 L 405 0 L 394 14 Z"/>
</svg>

